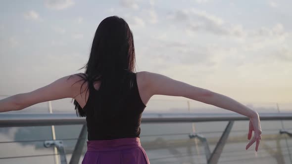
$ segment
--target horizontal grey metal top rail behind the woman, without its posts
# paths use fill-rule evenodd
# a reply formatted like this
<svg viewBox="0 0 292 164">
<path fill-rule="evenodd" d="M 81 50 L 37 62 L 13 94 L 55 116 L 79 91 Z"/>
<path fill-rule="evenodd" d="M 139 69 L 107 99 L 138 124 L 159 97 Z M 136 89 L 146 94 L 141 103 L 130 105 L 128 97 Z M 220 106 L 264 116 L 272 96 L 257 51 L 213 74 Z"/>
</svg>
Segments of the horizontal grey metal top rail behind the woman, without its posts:
<svg viewBox="0 0 292 164">
<path fill-rule="evenodd" d="M 157 115 L 157 117 L 155 117 Z M 177 116 L 175 116 L 177 115 Z M 292 113 L 260 113 L 260 120 L 279 121 L 292 120 Z M 194 123 L 215 121 L 246 121 L 248 117 L 237 113 L 225 114 L 146 114 L 142 117 L 142 123 Z M 0 127 L 13 126 L 47 126 L 86 124 L 85 118 L 79 118 L 76 114 L 0 114 Z"/>
</svg>

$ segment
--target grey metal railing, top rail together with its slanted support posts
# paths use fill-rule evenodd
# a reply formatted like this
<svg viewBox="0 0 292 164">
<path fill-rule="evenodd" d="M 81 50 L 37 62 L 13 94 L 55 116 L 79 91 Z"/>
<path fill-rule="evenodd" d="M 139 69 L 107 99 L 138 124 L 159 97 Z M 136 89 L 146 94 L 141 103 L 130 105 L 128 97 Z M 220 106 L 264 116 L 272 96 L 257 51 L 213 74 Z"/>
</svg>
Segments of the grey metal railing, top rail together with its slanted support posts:
<svg viewBox="0 0 292 164">
<path fill-rule="evenodd" d="M 292 120 L 292 113 L 262 113 L 259 114 L 260 120 L 279 121 Z M 217 164 L 222 153 L 223 147 L 227 142 L 228 135 L 231 131 L 234 121 L 248 121 L 249 118 L 237 113 L 220 113 L 220 114 L 190 114 L 190 113 L 172 113 L 172 114 L 145 114 L 142 117 L 142 123 L 194 123 L 194 122 L 217 122 L 228 121 L 228 125 L 217 142 L 213 152 L 210 152 L 208 142 L 200 134 L 190 134 L 190 138 L 198 137 L 205 146 L 207 164 Z M 77 144 L 75 145 L 72 158 L 69 164 L 78 164 L 82 150 L 86 141 L 87 126 L 86 119 L 79 118 L 75 114 L 58 113 L 58 114 L 31 114 L 31 113 L 4 113 L 0 114 L 0 127 L 11 126 L 47 126 L 47 125 L 68 125 L 83 124 L 79 134 Z M 281 133 L 281 131 L 280 131 Z M 47 145 L 47 146 L 46 146 Z M 49 140 L 44 142 L 45 147 L 54 146 L 60 152 L 61 164 L 67 164 L 66 153 L 61 140 Z M 74 155 L 74 156 L 73 156 Z"/>
</svg>

